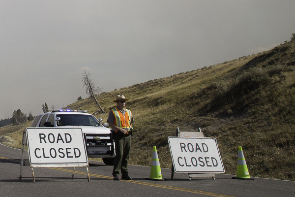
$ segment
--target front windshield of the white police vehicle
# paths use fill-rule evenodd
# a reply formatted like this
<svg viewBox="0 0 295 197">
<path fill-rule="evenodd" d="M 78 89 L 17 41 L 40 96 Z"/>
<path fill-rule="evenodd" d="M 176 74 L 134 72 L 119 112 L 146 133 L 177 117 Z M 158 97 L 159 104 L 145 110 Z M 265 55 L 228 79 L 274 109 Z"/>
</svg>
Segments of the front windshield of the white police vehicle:
<svg viewBox="0 0 295 197">
<path fill-rule="evenodd" d="M 57 114 L 57 121 L 59 126 L 101 126 L 97 119 L 91 115 L 81 115 L 81 114 Z"/>
</svg>

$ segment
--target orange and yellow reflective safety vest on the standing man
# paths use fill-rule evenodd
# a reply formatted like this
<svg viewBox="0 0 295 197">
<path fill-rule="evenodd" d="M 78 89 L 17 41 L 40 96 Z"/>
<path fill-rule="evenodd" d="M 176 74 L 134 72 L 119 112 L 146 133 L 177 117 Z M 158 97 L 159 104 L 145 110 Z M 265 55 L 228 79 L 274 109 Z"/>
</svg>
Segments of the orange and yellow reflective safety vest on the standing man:
<svg viewBox="0 0 295 197">
<path fill-rule="evenodd" d="M 115 109 L 112 109 L 112 112 L 115 117 L 114 125 L 129 132 L 130 125 L 131 125 L 132 113 L 128 109 L 125 109 L 125 110 L 126 110 L 125 116 L 123 116 L 123 114 L 118 109 L 118 107 L 116 107 Z M 118 132 L 118 131 L 115 131 L 115 132 Z M 128 134 L 128 132 L 127 132 L 127 134 Z"/>
</svg>

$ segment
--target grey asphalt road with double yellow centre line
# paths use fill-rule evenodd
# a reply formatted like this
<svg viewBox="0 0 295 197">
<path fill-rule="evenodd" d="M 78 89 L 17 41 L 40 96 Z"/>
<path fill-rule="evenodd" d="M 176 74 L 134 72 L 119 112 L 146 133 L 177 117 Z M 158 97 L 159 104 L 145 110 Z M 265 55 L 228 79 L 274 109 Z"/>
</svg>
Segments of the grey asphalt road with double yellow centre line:
<svg viewBox="0 0 295 197">
<path fill-rule="evenodd" d="M 255 178 L 236 180 L 234 175 L 215 174 L 211 178 L 188 179 L 187 173 L 175 173 L 171 180 L 171 169 L 162 168 L 165 181 L 146 180 L 150 167 L 129 165 L 131 181 L 114 181 L 112 166 L 89 161 L 90 182 L 86 167 L 34 168 L 35 182 L 29 166 L 23 167 L 20 176 L 22 151 L 0 144 L 0 197 L 294 197 L 295 182 Z M 28 152 L 25 154 L 28 159 Z M 159 158 L 161 160 L 161 158 Z M 226 166 L 225 166 L 226 167 Z M 251 175 L 251 174 L 250 174 Z"/>
</svg>

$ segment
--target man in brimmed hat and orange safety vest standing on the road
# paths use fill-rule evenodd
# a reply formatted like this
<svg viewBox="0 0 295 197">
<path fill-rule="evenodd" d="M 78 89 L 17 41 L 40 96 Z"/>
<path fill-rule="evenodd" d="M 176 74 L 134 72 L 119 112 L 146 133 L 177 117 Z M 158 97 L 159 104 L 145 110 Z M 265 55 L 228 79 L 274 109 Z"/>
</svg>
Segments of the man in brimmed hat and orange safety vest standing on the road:
<svg viewBox="0 0 295 197">
<path fill-rule="evenodd" d="M 109 126 L 115 130 L 115 148 L 116 157 L 114 159 L 113 176 L 114 180 L 120 180 L 119 170 L 121 170 L 121 179 L 132 180 L 128 175 L 128 161 L 130 153 L 130 134 L 131 124 L 134 123 L 130 110 L 125 109 L 126 101 L 124 95 L 118 95 L 113 102 L 117 103 L 117 107 L 109 113 L 107 122 Z"/>
</svg>

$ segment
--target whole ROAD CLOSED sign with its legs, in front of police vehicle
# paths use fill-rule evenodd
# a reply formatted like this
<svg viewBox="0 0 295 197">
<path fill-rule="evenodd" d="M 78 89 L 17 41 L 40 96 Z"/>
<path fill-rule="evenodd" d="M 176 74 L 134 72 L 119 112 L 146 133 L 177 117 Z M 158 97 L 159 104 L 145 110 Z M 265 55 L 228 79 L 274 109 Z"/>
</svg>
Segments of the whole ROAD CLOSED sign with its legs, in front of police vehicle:
<svg viewBox="0 0 295 197">
<path fill-rule="evenodd" d="M 40 131 L 46 131 L 40 134 Z M 53 131 L 53 132 L 50 132 Z M 59 131 L 59 132 L 58 132 Z M 48 133 L 50 132 L 50 133 Z M 47 138 L 46 138 L 46 134 L 47 134 Z M 62 133 L 62 134 L 60 134 Z M 67 133 L 67 134 L 65 134 Z M 57 135 L 58 134 L 58 135 Z M 57 138 L 56 138 L 57 136 Z M 68 137 L 66 139 L 66 137 Z M 38 143 L 34 143 L 36 142 L 35 140 L 39 140 L 39 144 Z M 43 141 L 42 141 L 43 140 Z M 61 149 L 59 151 L 57 150 L 53 150 L 49 149 L 51 152 L 47 152 L 47 157 L 45 156 L 45 150 L 47 148 L 48 151 L 48 145 L 45 143 L 48 143 L 48 145 L 52 145 L 52 146 L 61 146 Z M 66 141 L 65 141 L 66 140 Z M 72 141 L 73 140 L 73 141 Z M 53 145 L 55 142 L 59 142 L 58 145 Z M 37 141 L 38 142 L 38 141 Z M 41 142 L 43 142 L 42 145 Z M 66 146 L 64 145 L 66 142 Z M 36 148 L 37 145 L 40 145 Z M 43 146 L 45 144 L 45 146 Z M 63 144 L 63 145 L 62 145 Z M 73 144 L 75 147 L 73 147 Z M 32 171 L 32 177 L 33 177 L 33 182 L 35 182 L 35 175 L 34 175 L 34 171 L 33 168 L 35 167 L 74 167 L 73 169 L 73 175 L 72 175 L 72 179 L 74 178 L 74 171 L 75 171 L 75 167 L 86 167 L 87 168 L 87 179 L 88 182 L 90 181 L 90 176 L 89 176 L 89 163 L 88 163 L 88 156 L 87 156 L 87 149 L 86 149 L 86 141 L 85 141 L 85 135 L 82 131 L 82 128 L 77 128 L 77 127 L 68 127 L 68 128 L 26 128 L 23 131 L 23 151 L 22 151 L 22 158 L 21 158 L 21 170 L 20 170 L 20 178 L 22 179 L 22 174 L 23 174 L 23 166 L 28 165 L 26 164 L 26 160 L 24 159 L 24 154 L 26 151 L 26 145 L 28 146 L 28 152 L 29 152 L 29 166 L 31 168 Z M 71 147 L 72 146 L 72 147 Z M 68 149 L 63 149 L 67 147 Z M 72 149 L 73 148 L 73 149 Z M 74 149 L 76 148 L 76 149 Z M 32 149 L 34 149 L 32 151 Z M 79 149 L 79 150 L 78 150 Z M 62 152 L 66 150 L 65 152 Z M 36 154 L 36 152 L 38 152 L 38 154 Z M 50 159 L 49 155 L 52 157 Z M 59 158 L 64 158 L 65 156 L 67 156 L 67 158 L 69 159 L 65 159 L 68 161 L 53 161 L 55 158 L 58 157 L 57 154 L 61 154 L 59 155 Z M 33 160 L 31 160 L 31 156 L 35 156 L 35 157 L 40 157 L 41 161 L 37 161 L 34 158 Z M 54 156 L 52 156 L 54 155 Z M 42 158 L 43 156 L 43 158 Z M 64 156 L 64 157 L 63 157 Z M 81 158 L 80 158 L 81 156 Z M 45 159 L 46 158 L 46 159 Z M 39 158 L 37 158 L 39 159 Z M 49 160 L 50 162 L 48 162 Z"/>
</svg>

